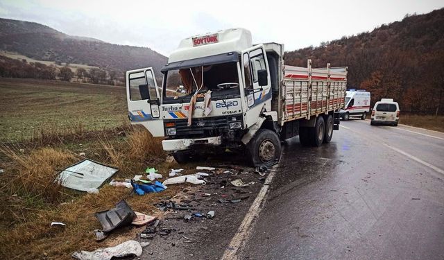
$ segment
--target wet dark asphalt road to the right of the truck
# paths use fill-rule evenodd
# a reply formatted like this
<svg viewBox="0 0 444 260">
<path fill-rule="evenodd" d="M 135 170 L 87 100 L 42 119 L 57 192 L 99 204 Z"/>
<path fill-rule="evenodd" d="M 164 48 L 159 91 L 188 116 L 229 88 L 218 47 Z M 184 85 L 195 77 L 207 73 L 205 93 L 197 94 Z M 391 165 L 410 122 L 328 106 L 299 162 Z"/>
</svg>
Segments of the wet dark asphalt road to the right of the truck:
<svg viewBox="0 0 444 260">
<path fill-rule="evenodd" d="M 284 147 L 239 259 L 444 259 L 444 134 L 341 121 Z"/>
</svg>

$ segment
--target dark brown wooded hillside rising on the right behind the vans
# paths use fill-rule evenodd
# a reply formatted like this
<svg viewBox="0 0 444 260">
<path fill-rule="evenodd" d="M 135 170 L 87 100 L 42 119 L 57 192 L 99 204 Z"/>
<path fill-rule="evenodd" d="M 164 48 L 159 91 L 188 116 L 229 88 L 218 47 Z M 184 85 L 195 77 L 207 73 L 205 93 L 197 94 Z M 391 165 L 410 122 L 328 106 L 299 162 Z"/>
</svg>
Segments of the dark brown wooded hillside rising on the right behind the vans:
<svg viewBox="0 0 444 260">
<path fill-rule="evenodd" d="M 444 110 L 444 8 L 287 52 L 285 63 L 306 66 L 308 58 L 316 67 L 348 66 L 348 87 L 369 90 L 372 103 L 387 97 L 403 111 Z"/>
</svg>

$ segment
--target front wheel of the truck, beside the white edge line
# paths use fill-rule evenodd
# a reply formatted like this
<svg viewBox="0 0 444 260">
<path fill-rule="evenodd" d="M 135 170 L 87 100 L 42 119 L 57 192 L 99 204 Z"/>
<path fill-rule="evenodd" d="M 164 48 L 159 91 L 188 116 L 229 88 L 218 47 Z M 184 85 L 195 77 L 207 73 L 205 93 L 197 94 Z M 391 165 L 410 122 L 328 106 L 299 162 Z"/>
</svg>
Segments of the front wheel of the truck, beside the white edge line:
<svg viewBox="0 0 444 260">
<path fill-rule="evenodd" d="M 247 150 L 254 166 L 272 166 L 280 159 L 280 139 L 272 130 L 259 129 L 248 143 Z"/>
</svg>

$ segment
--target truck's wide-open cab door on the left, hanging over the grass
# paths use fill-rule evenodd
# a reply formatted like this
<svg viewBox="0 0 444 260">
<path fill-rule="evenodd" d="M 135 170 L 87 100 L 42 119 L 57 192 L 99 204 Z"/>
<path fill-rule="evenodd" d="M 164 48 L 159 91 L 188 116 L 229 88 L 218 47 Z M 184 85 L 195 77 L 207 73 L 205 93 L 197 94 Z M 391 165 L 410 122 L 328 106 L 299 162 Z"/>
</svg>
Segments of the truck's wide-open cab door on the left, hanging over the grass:
<svg viewBox="0 0 444 260">
<path fill-rule="evenodd" d="M 144 125 L 153 137 L 163 137 L 160 93 L 152 68 L 126 71 L 126 101 L 131 123 Z"/>
</svg>

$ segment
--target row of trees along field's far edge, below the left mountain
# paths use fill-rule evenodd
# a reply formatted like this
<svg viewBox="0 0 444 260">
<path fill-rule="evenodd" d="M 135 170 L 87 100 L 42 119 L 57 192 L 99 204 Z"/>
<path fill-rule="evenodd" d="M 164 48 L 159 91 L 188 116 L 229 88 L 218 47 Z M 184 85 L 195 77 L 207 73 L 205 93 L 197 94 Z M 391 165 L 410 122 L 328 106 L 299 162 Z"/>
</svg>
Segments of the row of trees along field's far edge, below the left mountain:
<svg viewBox="0 0 444 260">
<path fill-rule="evenodd" d="M 57 67 L 40 62 L 15 60 L 0 55 L 0 77 L 4 78 L 40 78 L 43 80 L 63 80 L 83 83 L 124 85 L 125 75 L 117 71 L 105 71 L 99 68 Z"/>
</svg>

